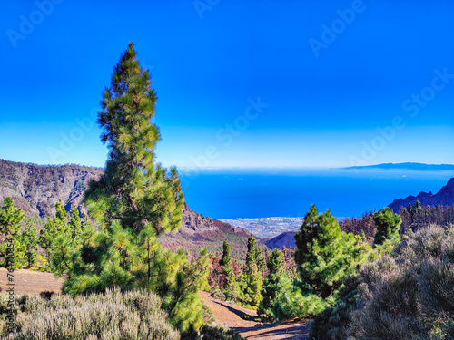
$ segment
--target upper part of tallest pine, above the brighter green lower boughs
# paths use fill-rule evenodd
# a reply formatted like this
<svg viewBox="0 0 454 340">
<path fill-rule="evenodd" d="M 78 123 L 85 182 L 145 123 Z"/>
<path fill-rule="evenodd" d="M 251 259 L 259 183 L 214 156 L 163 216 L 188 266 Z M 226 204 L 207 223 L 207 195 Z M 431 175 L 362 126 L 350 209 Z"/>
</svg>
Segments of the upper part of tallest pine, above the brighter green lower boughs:
<svg viewBox="0 0 454 340">
<path fill-rule="evenodd" d="M 150 73 L 130 43 L 101 102 L 98 121 L 110 149 L 105 173 L 85 193 L 91 215 L 104 226 L 119 220 L 123 228 L 153 228 L 156 235 L 180 227 L 184 201 L 178 174 L 155 163 L 161 140 L 152 122 L 156 100 Z"/>
</svg>

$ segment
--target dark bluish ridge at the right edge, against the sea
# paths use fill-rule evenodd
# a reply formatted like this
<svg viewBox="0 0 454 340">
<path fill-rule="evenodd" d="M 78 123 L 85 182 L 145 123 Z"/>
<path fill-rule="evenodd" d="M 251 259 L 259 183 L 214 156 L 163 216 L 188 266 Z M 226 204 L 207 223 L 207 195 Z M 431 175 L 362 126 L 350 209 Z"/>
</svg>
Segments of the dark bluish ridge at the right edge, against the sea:
<svg viewBox="0 0 454 340">
<path fill-rule="evenodd" d="M 407 207 L 410 204 L 419 203 L 423 206 L 451 206 L 454 204 L 454 178 L 450 179 L 448 183 L 439 189 L 439 192 L 433 194 L 429 192 L 419 192 L 418 196 L 408 196 L 405 199 L 395 199 L 390 205 L 390 209 L 398 212 L 400 207 Z"/>
</svg>

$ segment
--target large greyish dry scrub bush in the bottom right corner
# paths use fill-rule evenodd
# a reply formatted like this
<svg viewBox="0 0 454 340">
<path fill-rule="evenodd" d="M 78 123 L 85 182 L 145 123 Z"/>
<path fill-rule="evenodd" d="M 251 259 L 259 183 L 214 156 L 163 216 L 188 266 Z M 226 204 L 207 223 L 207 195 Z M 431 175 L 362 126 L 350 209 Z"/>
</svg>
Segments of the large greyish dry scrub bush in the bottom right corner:
<svg viewBox="0 0 454 340">
<path fill-rule="evenodd" d="M 361 269 L 352 339 L 452 339 L 454 228 L 431 226 Z"/>
</svg>

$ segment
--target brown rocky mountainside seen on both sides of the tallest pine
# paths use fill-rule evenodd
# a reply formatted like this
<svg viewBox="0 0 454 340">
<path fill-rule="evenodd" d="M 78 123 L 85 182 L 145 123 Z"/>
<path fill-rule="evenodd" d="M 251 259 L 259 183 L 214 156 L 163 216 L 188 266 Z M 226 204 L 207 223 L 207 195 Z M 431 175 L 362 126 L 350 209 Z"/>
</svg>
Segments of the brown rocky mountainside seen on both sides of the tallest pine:
<svg viewBox="0 0 454 340">
<path fill-rule="evenodd" d="M 62 199 L 66 210 L 78 207 L 86 212 L 82 200 L 88 182 L 103 174 L 102 169 L 80 165 L 36 165 L 0 160 L 0 205 L 12 197 L 15 205 L 25 211 L 27 218 L 45 219 L 55 213 L 54 205 Z M 225 239 L 232 247 L 232 256 L 246 254 L 250 232 L 230 224 L 210 219 L 185 205 L 182 227 L 178 232 L 160 238 L 166 248 L 221 251 Z"/>
</svg>

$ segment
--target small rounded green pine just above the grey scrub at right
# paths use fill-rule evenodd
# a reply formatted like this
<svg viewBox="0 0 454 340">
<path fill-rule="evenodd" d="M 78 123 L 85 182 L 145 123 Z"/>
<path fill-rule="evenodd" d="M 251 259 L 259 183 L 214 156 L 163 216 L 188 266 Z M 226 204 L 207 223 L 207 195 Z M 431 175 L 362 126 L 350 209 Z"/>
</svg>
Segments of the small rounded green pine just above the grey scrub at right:
<svg viewBox="0 0 454 340">
<path fill-rule="evenodd" d="M 386 207 L 381 211 L 376 211 L 373 215 L 373 220 L 377 226 L 377 232 L 374 236 L 373 245 L 377 247 L 382 245 L 386 240 L 391 244 L 400 243 L 400 224 L 402 218 L 398 214 L 394 214 L 390 207 Z"/>
</svg>

